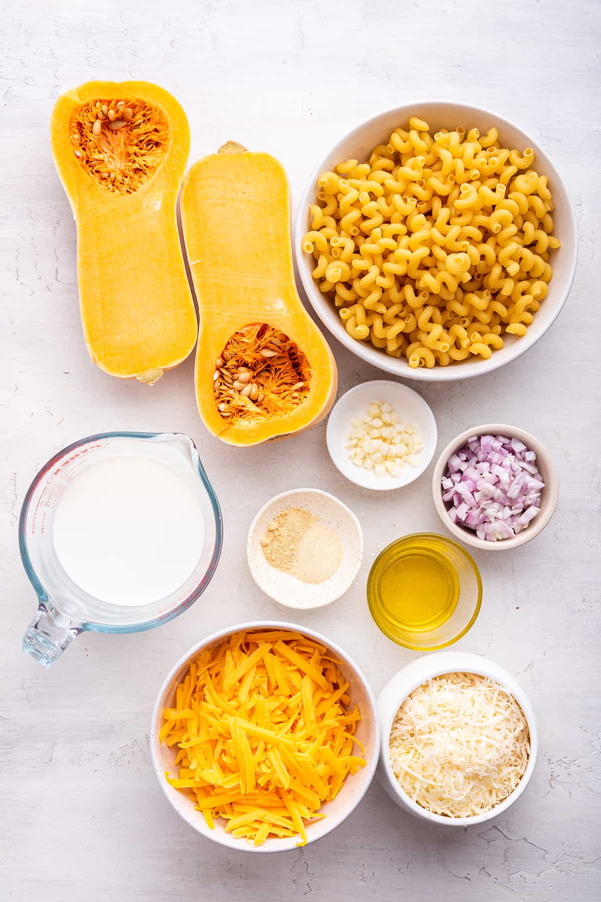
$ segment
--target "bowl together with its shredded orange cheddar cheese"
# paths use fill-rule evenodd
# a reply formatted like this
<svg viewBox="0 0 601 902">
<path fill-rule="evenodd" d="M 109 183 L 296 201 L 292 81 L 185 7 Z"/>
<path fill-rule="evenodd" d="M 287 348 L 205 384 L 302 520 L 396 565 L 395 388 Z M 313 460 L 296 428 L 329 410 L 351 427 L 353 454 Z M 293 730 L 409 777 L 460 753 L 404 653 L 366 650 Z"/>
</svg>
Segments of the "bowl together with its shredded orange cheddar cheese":
<svg viewBox="0 0 601 902">
<path fill-rule="evenodd" d="M 376 700 L 321 633 L 241 623 L 171 668 L 150 750 L 170 804 L 198 833 L 239 851 L 288 851 L 330 833 L 367 792 Z"/>
</svg>

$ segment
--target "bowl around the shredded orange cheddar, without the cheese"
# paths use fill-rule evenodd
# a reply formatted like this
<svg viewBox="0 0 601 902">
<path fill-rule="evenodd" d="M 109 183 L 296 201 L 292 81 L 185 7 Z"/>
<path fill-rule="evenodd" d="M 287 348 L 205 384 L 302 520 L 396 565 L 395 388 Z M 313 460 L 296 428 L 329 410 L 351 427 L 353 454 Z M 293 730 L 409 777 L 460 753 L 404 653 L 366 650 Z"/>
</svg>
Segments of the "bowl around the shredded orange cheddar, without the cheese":
<svg viewBox="0 0 601 902">
<path fill-rule="evenodd" d="M 365 757 L 367 765 L 357 771 L 356 774 L 350 775 L 344 781 L 338 796 L 332 801 L 323 805 L 322 813 L 325 815 L 323 820 L 315 821 L 306 828 L 307 843 L 315 842 L 321 839 L 327 833 L 331 833 L 342 821 L 347 818 L 351 812 L 359 805 L 361 799 L 368 790 L 369 784 L 376 771 L 378 765 L 379 752 L 379 730 L 378 717 L 376 709 L 376 699 L 369 688 L 369 683 L 355 664 L 353 659 L 343 651 L 335 642 L 323 636 L 316 630 L 309 630 L 307 627 L 298 626 L 296 623 L 287 623 L 283 621 L 250 621 L 248 623 L 238 623 L 235 626 L 228 627 L 225 630 L 214 632 L 212 636 L 197 642 L 186 654 L 179 658 L 178 662 L 171 667 L 168 675 L 163 681 L 163 685 L 159 689 L 159 695 L 152 712 L 152 721 L 150 723 L 150 752 L 152 755 L 152 764 L 154 771 L 162 787 L 163 792 L 168 797 L 169 803 L 183 817 L 187 824 L 198 833 L 202 833 L 207 839 L 219 842 L 220 845 L 227 846 L 230 849 L 238 851 L 250 852 L 270 852 L 270 851 L 289 851 L 296 849 L 298 837 L 284 837 L 282 839 L 269 838 L 263 845 L 254 846 L 244 840 L 236 839 L 231 833 L 225 833 L 225 829 L 219 821 L 215 821 L 214 830 L 210 830 L 205 824 L 205 818 L 199 811 L 195 810 L 194 802 L 179 792 L 178 789 L 169 786 L 165 779 L 165 771 L 173 772 L 173 762 L 176 757 L 176 748 L 168 748 L 159 742 L 159 731 L 164 722 L 163 710 L 166 707 L 172 707 L 175 704 L 176 688 L 181 679 L 186 675 L 190 662 L 196 658 L 198 653 L 203 649 L 210 648 L 217 642 L 227 639 L 233 632 L 241 630 L 293 630 L 301 632 L 305 636 L 321 642 L 330 649 L 336 658 L 341 661 L 341 671 L 346 676 L 351 687 L 349 695 L 353 702 L 359 706 L 361 713 L 361 721 L 357 727 L 355 735 L 357 739 L 365 747 Z"/>
</svg>

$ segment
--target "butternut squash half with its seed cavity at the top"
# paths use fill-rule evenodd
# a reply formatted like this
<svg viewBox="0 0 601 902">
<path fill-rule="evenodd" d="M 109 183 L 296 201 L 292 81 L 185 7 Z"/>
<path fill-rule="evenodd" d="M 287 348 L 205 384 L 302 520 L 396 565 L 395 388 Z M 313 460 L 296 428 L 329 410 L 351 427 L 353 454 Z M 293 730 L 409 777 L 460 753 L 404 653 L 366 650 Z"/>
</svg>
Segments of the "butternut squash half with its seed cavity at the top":
<svg viewBox="0 0 601 902">
<path fill-rule="evenodd" d="M 190 135 L 144 81 L 88 81 L 59 97 L 52 154 L 77 224 L 87 350 L 105 373 L 155 382 L 196 342 L 176 206 Z"/>
</svg>

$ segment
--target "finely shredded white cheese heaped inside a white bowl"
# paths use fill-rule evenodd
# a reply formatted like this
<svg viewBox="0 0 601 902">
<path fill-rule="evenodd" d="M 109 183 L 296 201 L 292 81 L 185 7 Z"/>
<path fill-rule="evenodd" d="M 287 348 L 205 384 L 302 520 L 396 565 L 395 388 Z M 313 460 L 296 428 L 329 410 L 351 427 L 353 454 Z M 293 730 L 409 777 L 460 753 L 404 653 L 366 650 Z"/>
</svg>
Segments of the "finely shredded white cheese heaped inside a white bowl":
<svg viewBox="0 0 601 902">
<path fill-rule="evenodd" d="M 451 673 L 408 695 L 390 732 L 399 785 L 436 815 L 469 817 L 509 796 L 530 754 L 519 704 L 487 676 Z"/>
</svg>

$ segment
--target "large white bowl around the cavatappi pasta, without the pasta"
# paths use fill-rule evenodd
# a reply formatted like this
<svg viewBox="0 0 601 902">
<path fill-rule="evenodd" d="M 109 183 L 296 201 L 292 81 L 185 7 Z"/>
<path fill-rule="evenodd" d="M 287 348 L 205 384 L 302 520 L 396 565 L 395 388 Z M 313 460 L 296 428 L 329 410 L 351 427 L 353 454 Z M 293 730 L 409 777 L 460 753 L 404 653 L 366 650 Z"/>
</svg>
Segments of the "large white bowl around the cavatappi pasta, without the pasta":
<svg viewBox="0 0 601 902">
<path fill-rule="evenodd" d="M 504 347 L 500 351 L 494 351 L 488 360 L 472 357 L 450 366 L 434 366 L 432 369 L 418 367 L 413 370 L 405 358 L 390 357 L 368 342 L 351 338 L 342 324 L 332 300 L 323 295 L 319 290 L 318 283 L 311 275 L 311 271 L 314 269 L 314 258 L 304 253 L 301 247 L 303 236 L 309 229 L 309 206 L 315 203 L 316 183 L 321 173 L 332 170 L 336 163 L 343 160 L 367 161 L 372 148 L 378 143 L 387 142 L 390 133 L 398 125 L 404 126 L 409 116 L 412 115 L 425 119 L 431 125 L 433 133 L 441 128 L 452 129 L 456 125 L 462 124 L 466 129 L 476 126 L 480 133 L 484 134 L 495 125 L 498 128 L 502 146 L 516 147 L 520 151 L 524 150 L 524 147 L 532 147 L 535 154 L 534 168 L 540 175 L 546 175 L 549 178 L 549 187 L 555 203 L 555 210 L 552 214 L 555 224 L 554 234 L 561 242 L 561 247 L 552 255 L 553 278 L 549 285 L 549 293 L 542 302 L 541 309 L 535 314 L 533 324 L 528 327 L 526 335 L 523 337 L 504 336 Z M 384 113 L 368 119 L 367 122 L 361 123 L 352 132 L 345 135 L 317 164 L 298 207 L 294 244 L 298 272 L 306 295 L 323 325 L 342 345 L 348 347 L 353 354 L 357 354 L 369 364 L 386 370 L 387 373 L 395 373 L 405 379 L 419 379 L 424 382 L 453 382 L 490 373 L 499 366 L 509 364 L 520 354 L 524 354 L 529 347 L 532 347 L 551 327 L 560 314 L 574 280 L 578 257 L 578 228 L 568 191 L 560 179 L 560 174 L 540 144 L 534 141 L 529 134 L 502 115 L 492 113 L 479 106 L 457 104 L 445 100 L 424 100 L 386 110 Z"/>
</svg>

